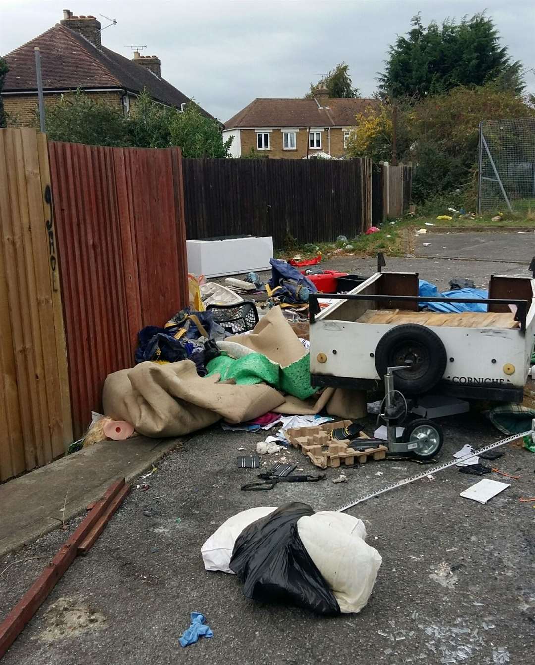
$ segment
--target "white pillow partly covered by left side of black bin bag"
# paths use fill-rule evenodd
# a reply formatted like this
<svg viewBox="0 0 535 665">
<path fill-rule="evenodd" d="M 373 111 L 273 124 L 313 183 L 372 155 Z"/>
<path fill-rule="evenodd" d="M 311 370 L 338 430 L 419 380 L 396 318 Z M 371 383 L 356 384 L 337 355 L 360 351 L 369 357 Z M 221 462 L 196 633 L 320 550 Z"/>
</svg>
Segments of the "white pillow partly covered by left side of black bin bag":
<svg viewBox="0 0 535 665">
<path fill-rule="evenodd" d="M 275 510 L 274 507 L 249 508 L 223 522 L 201 547 L 205 570 L 223 571 L 223 573 L 234 575 L 229 568 L 229 563 L 231 563 L 237 537 L 249 524 L 261 517 L 266 517 Z"/>
</svg>

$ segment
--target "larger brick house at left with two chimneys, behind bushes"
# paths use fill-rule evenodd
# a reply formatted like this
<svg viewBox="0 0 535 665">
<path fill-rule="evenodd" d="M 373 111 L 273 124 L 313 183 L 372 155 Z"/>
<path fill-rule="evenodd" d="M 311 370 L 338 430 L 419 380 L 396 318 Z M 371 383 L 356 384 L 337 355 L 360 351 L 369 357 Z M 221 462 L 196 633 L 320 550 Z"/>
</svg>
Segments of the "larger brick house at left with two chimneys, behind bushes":
<svg viewBox="0 0 535 665">
<path fill-rule="evenodd" d="M 9 65 L 2 92 L 4 107 L 17 124 L 35 124 L 35 47 L 41 50 L 45 105 L 56 103 L 64 93 L 78 88 L 93 98 L 117 104 L 125 112 L 144 89 L 167 106 L 181 108 L 190 101 L 161 78 L 156 55 L 134 51 L 130 60 L 107 49 L 100 41 L 100 22 L 95 17 L 73 16 L 66 9 L 61 23 L 4 56 Z"/>
</svg>

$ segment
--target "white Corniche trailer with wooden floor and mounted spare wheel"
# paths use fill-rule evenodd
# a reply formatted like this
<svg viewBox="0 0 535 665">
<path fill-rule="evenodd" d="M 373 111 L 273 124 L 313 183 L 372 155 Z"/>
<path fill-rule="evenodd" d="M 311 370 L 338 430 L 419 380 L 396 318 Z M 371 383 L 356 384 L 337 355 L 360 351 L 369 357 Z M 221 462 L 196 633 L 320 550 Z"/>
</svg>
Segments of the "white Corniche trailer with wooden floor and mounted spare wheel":
<svg viewBox="0 0 535 665">
<path fill-rule="evenodd" d="M 399 446 L 394 390 L 405 400 L 405 415 L 405 396 L 416 405 L 430 394 L 522 402 L 530 370 L 534 279 L 492 275 L 488 299 L 477 300 L 419 296 L 418 285 L 417 273 L 379 271 L 348 293 L 310 295 L 312 386 L 370 390 L 383 380 L 392 386 L 381 413 L 389 423 L 390 450 Z M 321 311 L 318 298 L 334 303 Z M 433 301 L 486 303 L 488 311 L 421 310 L 420 303 Z M 419 434 L 428 442 L 434 436 L 423 425 Z M 410 437 L 407 442 L 412 446 Z M 441 445 L 428 446 L 421 457 Z"/>
</svg>

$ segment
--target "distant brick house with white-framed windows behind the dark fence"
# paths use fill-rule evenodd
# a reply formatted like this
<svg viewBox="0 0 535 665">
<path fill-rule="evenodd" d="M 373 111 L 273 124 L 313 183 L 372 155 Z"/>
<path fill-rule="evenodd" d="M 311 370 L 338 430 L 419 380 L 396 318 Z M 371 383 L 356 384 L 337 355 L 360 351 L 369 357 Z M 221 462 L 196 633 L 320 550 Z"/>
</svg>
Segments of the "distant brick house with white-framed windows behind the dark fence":
<svg viewBox="0 0 535 665">
<path fill-rule="evenodd" d="M 312 99 L 257 98 L 225 122 L 223 140 L 234 137 L 231 155 L 251 150 L 275 158 L 302 159 L 325 153 L 346 154 L 355 115 L 373 99 L 330 98 L 319 88 Z"/>
</svg>

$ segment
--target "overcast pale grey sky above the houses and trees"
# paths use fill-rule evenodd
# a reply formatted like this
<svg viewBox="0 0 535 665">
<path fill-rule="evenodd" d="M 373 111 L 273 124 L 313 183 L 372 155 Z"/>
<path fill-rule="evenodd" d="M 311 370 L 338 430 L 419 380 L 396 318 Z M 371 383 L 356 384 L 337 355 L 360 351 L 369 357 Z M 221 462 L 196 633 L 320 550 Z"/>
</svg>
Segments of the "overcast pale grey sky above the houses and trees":
<svg viewBox="0 0 535 665">
<path fill-rule="evenodd" d="M 94 15 L 102 43 L 158 55 L 161 74 L 225 122 L 255 97 L 296 97 L 341 61 L 374 92 L 388 45 L 421 11 L 424 25 L 487 10 L 510 55 L 535 67 L 535 1 L 509 0 L 0 0 L 0 53 L 58 23 L 63 9 Z M 528 73 L 535 92 L 535 75 Z"/>
</svg>

